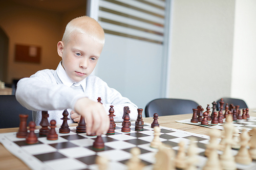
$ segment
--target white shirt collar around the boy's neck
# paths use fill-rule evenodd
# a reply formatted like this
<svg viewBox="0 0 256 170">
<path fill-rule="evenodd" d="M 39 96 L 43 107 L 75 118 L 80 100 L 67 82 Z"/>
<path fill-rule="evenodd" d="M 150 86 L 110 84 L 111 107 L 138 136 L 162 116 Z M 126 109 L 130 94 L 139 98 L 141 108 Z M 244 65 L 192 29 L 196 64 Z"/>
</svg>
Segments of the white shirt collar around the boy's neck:
<svg viewBox="0 0 256 170">
<path fill-rule="evenodd" d="M 83 92 L 84 92 L 84 90 L 86 89 L 86 79 L 83 79 L 80 82 L 74 82 L 73 80 L 71 80 L 69 78 L 69 76 L 67 75 L 67 72 L 65 71 L 65 69 L 62 67 L 61 61 L 59 62 L 59 65 L 58 65 L 56 71 L 57 71 L 57 75 L 58 75 L 59 79 L 61 80 L 61 82 L 64 85 L 66 85 L 68 87 L 71 87 L 73 84 L 74 84 L 74 86 L 81 85 L 83 88 Z"/>
</svg>

